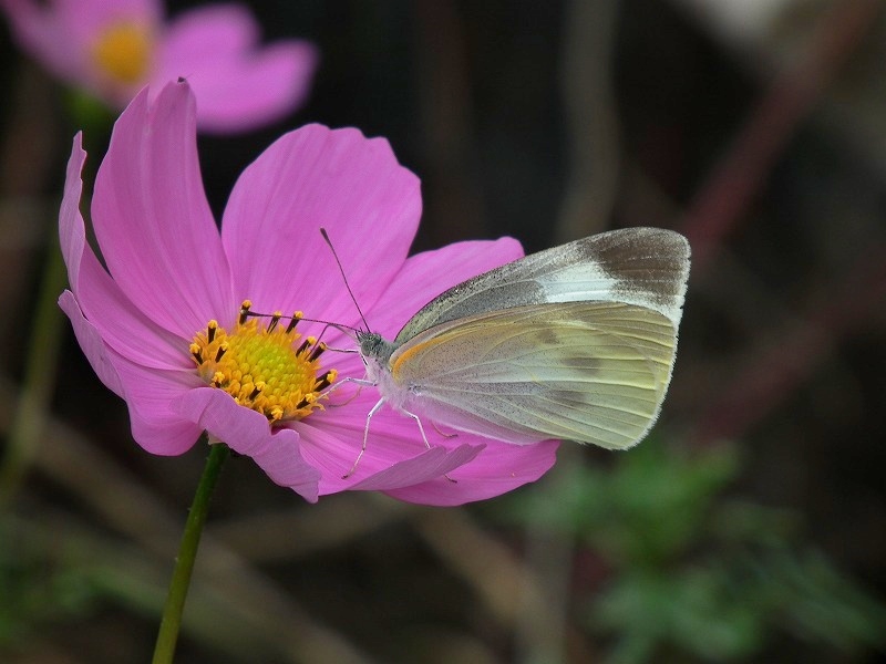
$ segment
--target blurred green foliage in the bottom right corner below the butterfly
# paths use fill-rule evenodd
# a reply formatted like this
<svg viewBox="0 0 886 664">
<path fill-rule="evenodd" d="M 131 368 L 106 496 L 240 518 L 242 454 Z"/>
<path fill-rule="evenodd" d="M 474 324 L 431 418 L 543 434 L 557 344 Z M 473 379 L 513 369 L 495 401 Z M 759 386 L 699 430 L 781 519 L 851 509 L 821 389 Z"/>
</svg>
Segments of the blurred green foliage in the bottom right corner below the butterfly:
<svg viewBox="0 0 886 664">
<path fill-rule="evenodd" d="M 776 633 L 845 653 L 884 645 L 886 606 L 802 547 L 793 515 L 728 497 L 739 468 L 731 446 L 690 455 L 650 442 L 521 502 L 522 518 L 610 571 L 585 612 L 611 640 L 609 662 L 735 661 Z"/>
</svg>

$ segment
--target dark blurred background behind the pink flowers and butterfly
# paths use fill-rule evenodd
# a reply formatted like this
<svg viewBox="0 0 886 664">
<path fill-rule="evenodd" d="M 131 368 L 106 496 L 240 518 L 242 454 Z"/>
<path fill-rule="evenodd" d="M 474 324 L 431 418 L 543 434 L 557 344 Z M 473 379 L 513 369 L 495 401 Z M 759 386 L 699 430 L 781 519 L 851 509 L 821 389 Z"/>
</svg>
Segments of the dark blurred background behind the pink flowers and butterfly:
<svg viewBox="0 0 886 664">
<path fill-rule="evenodd" d="M 883 3 L 249 4 L 321 62 L 292 116 L 200 138 L 216 212 L 320 122 L 385 136 L 422 178 L 415 250 L 649 225 L 694 263 L 670 394 L 629 453 L 564 445 L 538 483 L 456 509 L 310 506 L 230 461 L 177 662 L 886 661 Z M 0 85 L 6 437 L 79 127 L 7 24 Z M 145 662 L 205 449 L 143 452 L 63 330 L 0 516 L 0 662 Z"/>
</svg>

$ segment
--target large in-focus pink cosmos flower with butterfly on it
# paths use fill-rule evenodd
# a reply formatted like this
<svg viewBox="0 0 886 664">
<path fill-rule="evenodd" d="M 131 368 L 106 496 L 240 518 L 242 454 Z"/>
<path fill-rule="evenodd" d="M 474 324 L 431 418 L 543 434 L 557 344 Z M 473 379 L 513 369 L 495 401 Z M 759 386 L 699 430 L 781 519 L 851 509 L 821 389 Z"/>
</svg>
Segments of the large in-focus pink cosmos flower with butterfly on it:
<svg viewBox="0 0 886 664">
<path fill-rule="evenodd" d="M 146 450 L 182 454 L 206 430 L 310 501 L 380 490 L 459 505 L 533 481 L 554 464 L 556 442 L 447 438 L 433 427 L 429 450 L 411 418 L 383 408 L 343 479 L 378 394 L 344 387 L 317 396 L 337 377 L 363 376 L 356 353 L 331 350 L 353 341 L 328 329 L 330 350 L 321 352 L 311 339 L 322 331 L 317 323 L 288 331 L 287 318 L 240 317 L 249 300 L 253 312 L 357 323 L 321 227 L 367 319 L 388 338 L 442 290 L 522 256 L 506 238 L 406 258 L 419 180 L 384 139 L 319 125 L 286 134 L 240 176 L 219 232 L 200 184 L 188 84 L 168 84 L 155 98 L 143 91 L 117 121 L 95 180 L 92 224 L 106 269 L 79 209 L 84 159 L 78 135 L 60 212 L 71 283 L 60 304 L 99 377 L 126 401 Z"/>
</svg>

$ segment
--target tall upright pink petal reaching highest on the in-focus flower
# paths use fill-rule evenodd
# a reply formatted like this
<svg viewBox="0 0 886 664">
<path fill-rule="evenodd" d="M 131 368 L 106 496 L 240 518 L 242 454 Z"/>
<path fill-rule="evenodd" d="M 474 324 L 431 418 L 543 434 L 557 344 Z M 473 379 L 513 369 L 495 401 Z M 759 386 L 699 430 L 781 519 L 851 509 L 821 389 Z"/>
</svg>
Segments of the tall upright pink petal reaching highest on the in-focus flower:
<svg viewBox="0 0 886 664">
<path fill-rule="evenodd" d="M 117 120 L 92 217 L 114 281 L 158 325 L 190 339 L 209 319 L 236 315 L 186 83 L 167 85 L 153 104 L 142 91 Z"/>
</svg>

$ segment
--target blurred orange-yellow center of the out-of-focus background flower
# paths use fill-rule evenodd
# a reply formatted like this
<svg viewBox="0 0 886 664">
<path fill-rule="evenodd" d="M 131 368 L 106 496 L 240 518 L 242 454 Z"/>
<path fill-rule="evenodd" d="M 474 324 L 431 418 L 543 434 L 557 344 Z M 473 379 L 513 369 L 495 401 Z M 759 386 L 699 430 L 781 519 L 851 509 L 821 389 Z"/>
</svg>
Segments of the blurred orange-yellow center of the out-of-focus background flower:
<svg viewBox="0 0 886 664">
<path fill-rule="evenodd" d="M 130 85 L 147 76 L 153 46 L 150 25 L 121 21 L 99 34 L 92 45 L 92 59 L 112 80 Z"/>
</svg>

